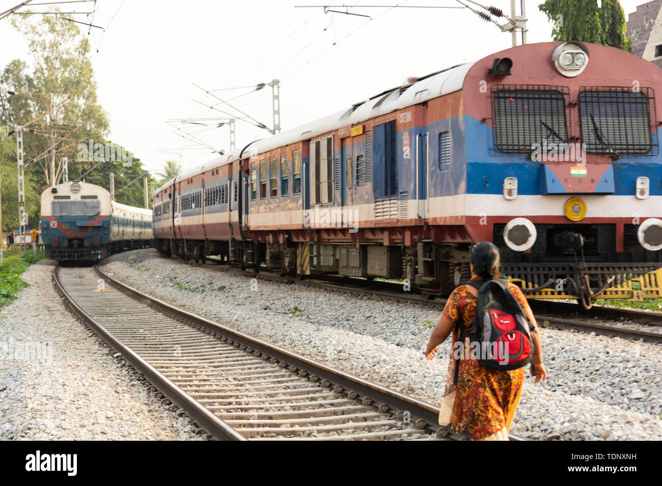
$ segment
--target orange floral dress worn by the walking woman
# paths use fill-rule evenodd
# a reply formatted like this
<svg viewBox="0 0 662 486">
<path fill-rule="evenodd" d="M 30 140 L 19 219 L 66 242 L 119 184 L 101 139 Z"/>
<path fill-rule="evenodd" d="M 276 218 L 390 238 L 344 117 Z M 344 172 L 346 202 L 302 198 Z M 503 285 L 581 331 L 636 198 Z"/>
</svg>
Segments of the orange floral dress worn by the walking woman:
<svg viewBox="0 0 662 486">
<path fill-rule="evenodd" d="M 480 279 L 475 277 L 471 280 Z M 526 310 L 529 305 L 518 286 L 509 282 L 506 288 L 522 305 L 522 309 Z M 443 315 L 455 323 L 451 349 L 455 349 L 455 343 L 459 340 L 457 326 L 463 325 L 471 329 L 477 303 L 478 298 L 469 293 L 466 285 L 455 288 L 449 296 Z M 453 385 L 455 364 L 459 366 L 457 385 Z M 440 424 L 451 426 L 457 432 L 466 427 L 473 440 L 484 439 L 504 427 L 510 430 L 522 393 L 525 368 L 510 371 L 491 370 L 475 359 L 455 360 L 451 352 Z"/>
</svg>

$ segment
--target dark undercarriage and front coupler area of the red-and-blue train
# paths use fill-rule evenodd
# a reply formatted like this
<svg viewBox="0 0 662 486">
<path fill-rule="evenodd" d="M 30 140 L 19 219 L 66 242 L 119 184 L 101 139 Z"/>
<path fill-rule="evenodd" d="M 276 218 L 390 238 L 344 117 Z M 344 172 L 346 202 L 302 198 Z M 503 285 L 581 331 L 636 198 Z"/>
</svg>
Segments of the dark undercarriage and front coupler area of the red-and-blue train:
<svg viewBox="0 0 662 486">
<path fill-rule="evenodd" d="M 662 297 L 662 252 L 643 249 L 636 241 L 636 229 L 626 227 L 623 251 L 616 253 L 611 225 L 548 226 L 538 227 L 538 239 L 529 252 L 512 251 L 504 242 L 503 225 L 494 226 L 502 276 L 520 286 L 527 298 L 574 299 L 588 309 L 597 298 Z M 202 263 L 214 256 L 216 263 L 255 272 L 265 266 L 297 278 L 338 274 L 402 280 L 403 288 L 416 289 L 428 298 L 447 297 L 471 277 L 471 244 L 435 241 L 439 235 L 434 234 L 408 245 L 404 239 L 387 241 L 390 245 L 384 244 L 386 238 L 357 241 L 354 236 L 352 241 L 352 235 L 342 243 L 324 241 L 316 231 L 295 235 L 299 241 L 291 234 L 261 236 L 266 241 L 155 242 L 164 255 Z"/>
</svg>

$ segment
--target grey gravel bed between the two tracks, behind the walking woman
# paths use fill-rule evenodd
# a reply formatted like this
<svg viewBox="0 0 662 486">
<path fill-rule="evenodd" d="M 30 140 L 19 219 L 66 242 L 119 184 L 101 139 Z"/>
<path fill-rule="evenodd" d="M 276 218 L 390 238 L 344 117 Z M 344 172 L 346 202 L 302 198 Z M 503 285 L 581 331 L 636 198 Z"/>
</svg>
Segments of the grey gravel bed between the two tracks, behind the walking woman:
<svg viewBox="0 0 662 486">
<path fill-rule="evenodd" d="M 142 292 L 293 352 L 440 403 L 449 343 L 422 350 L 438 311 L 250 279 L 160 257 L 113 255 L 103 270 Z M 548 379 L 527 378 L 512 432 L 533 439 L 662 439 L 662 349 L 542 329 Z"/>
</svg>

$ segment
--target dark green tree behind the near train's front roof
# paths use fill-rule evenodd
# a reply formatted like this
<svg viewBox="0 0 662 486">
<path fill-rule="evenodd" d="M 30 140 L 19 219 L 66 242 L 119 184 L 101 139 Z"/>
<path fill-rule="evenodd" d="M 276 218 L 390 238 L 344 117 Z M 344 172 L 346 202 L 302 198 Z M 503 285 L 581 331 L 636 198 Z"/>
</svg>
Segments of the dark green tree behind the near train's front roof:
<svg viewBox="0 0 662 486">
<path fill-rule="evenodd" d="M 625 14 L 618 0 L 545 0 L 538 6 L 553 22 L 551 31 L 557 42 L 592 42 L 632 52 L 626 38 Z"/>
</svg>

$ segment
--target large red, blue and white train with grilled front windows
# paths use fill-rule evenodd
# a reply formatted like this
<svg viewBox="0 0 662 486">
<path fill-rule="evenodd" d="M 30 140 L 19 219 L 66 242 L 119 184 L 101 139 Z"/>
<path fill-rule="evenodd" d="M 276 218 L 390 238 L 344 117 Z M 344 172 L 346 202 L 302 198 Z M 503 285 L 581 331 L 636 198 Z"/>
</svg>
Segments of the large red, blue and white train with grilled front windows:
<svg viewBox="0 0 662 486">
<path fill-rule="evenodd" d="M 528 44 L 252 142 L 153 194 L 165 254 L 445 296 L 492 241 L 528 298 L 657 298 L 659 68 Z"/>
</svg>

